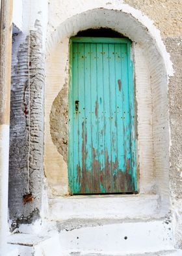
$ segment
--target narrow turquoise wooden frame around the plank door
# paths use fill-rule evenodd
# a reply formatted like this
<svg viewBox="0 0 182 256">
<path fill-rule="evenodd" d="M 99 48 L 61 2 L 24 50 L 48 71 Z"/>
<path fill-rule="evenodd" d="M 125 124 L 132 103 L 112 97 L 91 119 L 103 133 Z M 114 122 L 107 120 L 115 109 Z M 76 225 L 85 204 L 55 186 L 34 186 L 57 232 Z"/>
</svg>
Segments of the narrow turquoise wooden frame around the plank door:
<svg viewBox="0 0 182 256">
<path fill-rule="evenodd" d="M 131 116 L 131 163 L 133 170 L 133 194 L 138 193 L 138 153 L 137 153 L 137 125 L 136 125 L 136 97 L 135 97 L 135 83 L 134 83 L 134 71 L 133 61 L 131 57 L 131 40 L 127 38 L 110 38 L 110 37 L 71 37 L 69 42 L 69 86 L 68 86 L 68 191 L 72 195 L 73 191 L 73 167 L 70 163 L 73 163 L 73 154 L 70 143 L 70 115 L 73 112 L 72 104 L 72 44 L 73 42 L 101 42 L 101 43 L 114 43 L 114 44 L 126 44 L 127 45 L 127 66 L 128 66 L 128 84 L 129 84 L 129 103 L 130 103 L 130 116 Z M 123 194 L 123 193 L 120 193 Z M 104 194 L 102 194 L 104 195 Z"/>
</svg>

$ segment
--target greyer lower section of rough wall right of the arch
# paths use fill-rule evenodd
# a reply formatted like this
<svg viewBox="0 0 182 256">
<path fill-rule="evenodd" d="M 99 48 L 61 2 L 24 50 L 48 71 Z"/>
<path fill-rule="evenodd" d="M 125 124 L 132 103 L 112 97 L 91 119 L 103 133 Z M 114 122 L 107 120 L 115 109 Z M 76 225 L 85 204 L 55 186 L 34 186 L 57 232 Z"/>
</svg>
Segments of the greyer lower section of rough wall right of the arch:
<svg viewBox="0 0 182 256">
<path fill-rule="evenodd" d="M 182 7 L 181 7 L 182 9 Z M 174 63 L 175 74 L 170 79 L 168 97 L 170 102 L 170 188 L 176 218 L 177 246 L 182 248 L 182 37 L 164 39 Z"/>
</svg>

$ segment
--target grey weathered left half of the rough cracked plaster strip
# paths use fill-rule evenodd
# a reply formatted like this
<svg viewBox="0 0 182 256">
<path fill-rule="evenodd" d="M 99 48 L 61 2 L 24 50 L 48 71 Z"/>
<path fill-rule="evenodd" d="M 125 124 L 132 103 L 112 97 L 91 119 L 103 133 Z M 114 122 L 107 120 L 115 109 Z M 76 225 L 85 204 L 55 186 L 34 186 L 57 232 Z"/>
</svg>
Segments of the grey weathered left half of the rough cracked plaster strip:
<svg viewBox="0 0 182 256">
<path fill-rule="evenodd" d="M 15 43 L 15 38 L 13 42 Z M 28 39 L 19 46 L 17 63 L 12 59 L 10 111 L 9 208 L 10 218 L 23 214 L 23 195 L 28 191 Z M 26 177 L 26 178 L 25 178 Z M 13 196 L 14 195 L 14 196 Z M 21 204 L 21 208 L 19 207 Z"/>
</svg>

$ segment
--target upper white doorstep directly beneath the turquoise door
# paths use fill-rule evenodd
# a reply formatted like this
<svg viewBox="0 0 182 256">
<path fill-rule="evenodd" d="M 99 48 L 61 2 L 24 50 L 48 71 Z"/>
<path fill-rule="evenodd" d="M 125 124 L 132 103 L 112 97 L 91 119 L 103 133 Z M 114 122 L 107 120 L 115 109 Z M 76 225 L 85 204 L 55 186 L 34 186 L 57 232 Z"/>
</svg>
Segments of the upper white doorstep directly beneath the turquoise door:
<svg viewBox="0 0 182 256">
<path fill-rule="evenodd" d="M 124 207 L 123 207 L 124 206 Z M 166 213 L 165 213 L 166 214 Z M 150 219 L 159 217 L 159 195 L 92 195 L 49 199 L 48 219 Z"/>
</svg>

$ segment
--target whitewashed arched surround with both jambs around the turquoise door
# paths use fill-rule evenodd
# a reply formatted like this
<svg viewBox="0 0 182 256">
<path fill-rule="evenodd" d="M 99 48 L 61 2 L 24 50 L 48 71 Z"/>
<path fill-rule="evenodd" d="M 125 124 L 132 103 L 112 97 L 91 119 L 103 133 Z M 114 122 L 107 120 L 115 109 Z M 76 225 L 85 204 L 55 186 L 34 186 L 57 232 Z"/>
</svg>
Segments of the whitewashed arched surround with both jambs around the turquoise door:
<svg viewBox="0 0 182 256">
<path fill-rule="evenodd" d="M 167 99 L 167 75 L 171 74 L 170 60 L 168 54 L 166 54 L 164 45 L 160 37 L 155 32 L 155 27 L 144 20 L 138 14 L 131 10 L 109 10 L 109 9 L 92 9 L 86 12 L 82 12 L 78 15 L 72 16 L 68 20 L 62 22 L 57 27 L 56 31 L 51 35 L 50 40 L 47 42 L 47 61 L 49 56 L 59 58 L 57 49 L 60 49 L 60 54 L 65 54 L 65 59 L 69 54 L 69 39 L 77 35 L 79 31 L 98 28 L 109 27 L 122 33 L 126 37 L 129 37 L 132 44 L 132 57 L 134 59 L 134 76 L 135 76 L 135 95 L 137 104 L 136 113 L 136 131 L 138 134 L 137 143 L 137 158 L 140 172 L 140 179 L 138 187 L 140 193 L 137 196 L 139 200 L 147 198 L 148 195 L 154 195 L 156 204 L 159 204 L 159 208 L 155 208 L 155 204 L 151 204 L 151 212 L 157 212 L 158 214 L 166 213 L 169 207 L 169 184 L 168 184 L 168 170 L 169 170 L 169 123 L 168 123 L 168 99 Z M 157 35 L 157 37 L 155 37 Z M 64 48 L 61 44 L 64 42 Z M 67 54 L 67 56 L 66 56 Z M 58 59 L 58 63 L 59 63 Z M 68 81 L 68 63 L 66 64 L 65 76 Z M 54 67 L 55 68 L 55 67 Z M 60 71 L 60 69 L 59 69 Z M 51 72 L 51 69 L 49 69 Z M 53 71 L 54 72 L 54 71 Z M 54 145 L 51 151 L 57 154 L 57 158 L 61 155 L 64 157 L 64 161 L 60 159 L 57 163 L 64 163 L 64 168 L 47 168 L 45 164 L 45 174 L 48 182 L 50 182 L 53 189 L 57 189 L 59 184 L 57 183 L 58 176 L 61 173 L 60 180 L 64 181 L 61 187 L 68 185 L 68 165 L 67 165 L 67 148 L 68 133 L 66 131 L 66 123 L 60 123 L 59 120 L 65 120 L 62 118 L 62 114 L 57 113 L 57 103 L 62 101 L 62 89 L 64 89 L 64 101 L 68 102 L 68 82 L 62 83 L 62 89 L 57 90 L 55 96 L 51 93 L 51 76 L 50 79 L 47 76 L 47 95 L 49 95 L 49 103 L 53 102 L 51 108 L 47 107 L 47 116 L 50 112 L 50 127 L 45 126 L 45 135 L 51 137 L 48 138 L 49 144 L 45 141 L 45 161 L 46 152 L 49 151 L 50 144 Z M 46 94 L 46 91 L 45 91 Z M 67 95 L 67 96 L 66 96 Z M 56 97 L 57 96 L 57 97 Z M 52 97 L 52 98 L 51 98 Z M 64 112 L 68 112 L 67 103 L 64 105 Z M 46 116 L 46 113 L 45 113 Z M 55 122 L 60 125 L 56 131 L 54 131 Z M 62 125 L 64 125 L 64 134 L 62 133 Z M 164 127 L 164 128 L 163 128 Z M 59 138 L 62 138 L 62 141 Z M 56 152 L 55 148 L 59 151 Z M 53 151 L 54 150 L 54 151 Z M 52 153 L 51 152 L 51 153 Z M 48 153 L 47 153 L 48 155 Z M 51 157 L 51 156 L 50 156 Z M 54 156 L 53 156 L 54 157 Z M 54 165 L 56 166 L 56 165 Z M 57 165 L 59 166 L 59 165 Z M 137 167 L 138 167 L 137 166 Z M 67 176 L 66 176 L 67 175 Z M 62 178 L 63 177 L 63 178 Z M 66 178 L 67 177 L 67 180 Z M 65 192 L 59 192 L 58 195 L 65 195 Z M 144 196 L 144 197 L 142 197 Z M 129 201 L 129 199 L 127 199 Z M 149 202 L 148 200 L 146 200 Z M 138 206 L 141 202 L 138 202 Z M 159 210 L 160 209 L 160 210 Z M 131 210 L 129 210 L 131 213 Z"/>
</svg>

